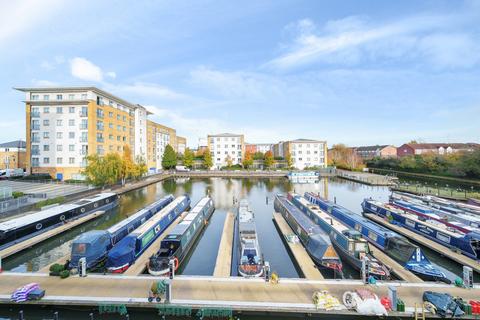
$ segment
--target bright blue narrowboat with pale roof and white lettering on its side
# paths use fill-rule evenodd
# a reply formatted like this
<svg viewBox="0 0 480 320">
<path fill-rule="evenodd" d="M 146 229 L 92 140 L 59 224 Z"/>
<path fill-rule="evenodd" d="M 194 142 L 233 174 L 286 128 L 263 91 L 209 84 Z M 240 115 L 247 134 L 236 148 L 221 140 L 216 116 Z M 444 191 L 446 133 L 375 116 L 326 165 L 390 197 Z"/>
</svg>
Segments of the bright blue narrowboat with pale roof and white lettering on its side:
<svg viewBox="0 0 480 320">
<path fill-rule="evenodd" d="M 107 270 L 113 273 L 122 273 L 127 270 L 162 232 L 189 207 L 190 198 L 187 195 L 178 197 L 158 214 L 120 240 L 107 254 L 105 264 Z"/>
</svg>

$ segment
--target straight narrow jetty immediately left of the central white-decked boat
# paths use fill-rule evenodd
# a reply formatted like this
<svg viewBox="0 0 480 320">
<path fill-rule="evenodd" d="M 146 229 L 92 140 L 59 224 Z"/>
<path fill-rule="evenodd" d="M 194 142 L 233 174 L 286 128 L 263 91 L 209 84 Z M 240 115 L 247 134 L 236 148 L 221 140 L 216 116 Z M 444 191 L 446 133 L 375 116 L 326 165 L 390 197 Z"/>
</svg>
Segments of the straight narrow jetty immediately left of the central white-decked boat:
<svg viewBox="0 0 480 320">
<path fill-rule="evenodd" d="M 225 217 L 225 224 L 223 225 L 222 238 L 218 247 L 215 270 L 213 271 L 214 277 L 225 278 L 230 276 L 232 268 L 234 221 L 234 214 L 232 212 L 227 212 L 227 216 Z"/>
</svg>

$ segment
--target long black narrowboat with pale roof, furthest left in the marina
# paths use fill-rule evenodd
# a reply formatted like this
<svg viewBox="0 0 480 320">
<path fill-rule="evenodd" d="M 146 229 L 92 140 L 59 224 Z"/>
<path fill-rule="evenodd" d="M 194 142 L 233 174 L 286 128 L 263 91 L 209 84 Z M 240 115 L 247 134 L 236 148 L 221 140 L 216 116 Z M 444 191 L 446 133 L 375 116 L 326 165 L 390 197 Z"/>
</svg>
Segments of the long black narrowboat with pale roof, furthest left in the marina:
<svg viewBox="0 0 480 320">
<path fill-rule="evenodd" d="M 0 249 L 32 238 L 98 210 L 118 205 L 116 193 L 99 193 L 72 203 L 62 204 L 0 223 Z"/>
</svg>

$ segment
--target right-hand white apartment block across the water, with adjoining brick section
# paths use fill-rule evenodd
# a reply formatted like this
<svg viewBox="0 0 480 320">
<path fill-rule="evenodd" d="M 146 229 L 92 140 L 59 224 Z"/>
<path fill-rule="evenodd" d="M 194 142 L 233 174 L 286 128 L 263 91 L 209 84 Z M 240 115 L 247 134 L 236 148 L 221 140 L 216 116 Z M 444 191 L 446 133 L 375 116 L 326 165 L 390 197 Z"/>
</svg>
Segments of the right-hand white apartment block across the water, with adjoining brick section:
<svg viewBox="0 0 480 320">
<path fill-rule="evenodd" d="M 274 145 L 273 155 L 285 158 L 291 155 L 293 166 L 303 170 L 306 167 L 327 166 L 327 142 L 311 139 L 281 141 Z"/>
</svg>

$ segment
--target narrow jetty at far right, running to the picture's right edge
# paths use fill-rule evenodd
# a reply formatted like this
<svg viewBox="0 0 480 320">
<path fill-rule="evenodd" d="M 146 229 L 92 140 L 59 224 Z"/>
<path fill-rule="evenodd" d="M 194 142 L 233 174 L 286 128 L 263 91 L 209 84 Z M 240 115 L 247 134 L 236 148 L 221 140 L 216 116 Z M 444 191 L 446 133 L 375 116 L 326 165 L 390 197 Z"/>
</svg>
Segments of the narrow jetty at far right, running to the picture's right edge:
<svg viewBox="0 0 480 320">
<path fill-rule="evenodd" d="M 430 240 L 426 237 L 423 237 L 407 228 L 404 228 L 404 227 L 401 227 L 401 226 L 397 226 L 397 225 L 394 225 L 394 224 L 391 224 L 391 223 L 388 223 L 386 220 L 382 219 L 381 217 L 373 214 L 373 213 L 368 213 L 368 214 L 365 214 L 366 217 L 368 217 L 369 219 L 411 239 L 412 241 L 415 241 L 427 248 L 430 248 L 438 253 L 440 253 L 441 255 L 463 265 L 463 266 L 469 266 L 470 268 L 472 268 L 475 272 L 478 272 L 480 273 L 480 261 L 475 261 L 474 259 L 472 258 L 469 258 L 461 253 L 457 253 L 455 251 L 452 251 L 450 250 L 449 248 L 433 241 L 433 240 Z"/>
</svg>

